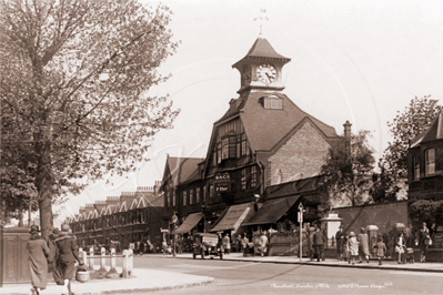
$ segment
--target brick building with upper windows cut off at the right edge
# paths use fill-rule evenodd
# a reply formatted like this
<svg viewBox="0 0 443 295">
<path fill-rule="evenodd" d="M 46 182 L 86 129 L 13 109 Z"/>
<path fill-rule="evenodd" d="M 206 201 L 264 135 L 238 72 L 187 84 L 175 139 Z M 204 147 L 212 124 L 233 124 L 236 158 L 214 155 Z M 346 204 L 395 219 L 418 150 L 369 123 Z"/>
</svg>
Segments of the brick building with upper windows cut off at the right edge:
<svg viewBox="0 0 443 295">
<path fill-rule="evenodd" d="M 443 200 L 443 114 L 411 141 L 407 151 L 409 200 Z"/>
</svg>

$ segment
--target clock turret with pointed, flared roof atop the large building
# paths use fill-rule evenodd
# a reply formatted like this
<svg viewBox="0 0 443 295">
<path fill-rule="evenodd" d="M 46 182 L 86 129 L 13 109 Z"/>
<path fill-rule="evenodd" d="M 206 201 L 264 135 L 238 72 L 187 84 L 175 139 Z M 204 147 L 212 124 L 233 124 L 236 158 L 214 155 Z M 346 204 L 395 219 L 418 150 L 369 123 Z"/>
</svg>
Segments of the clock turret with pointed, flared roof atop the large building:
<svg viewBox="0 0 443 295">
<path fill-rule="evenodd" d="M 259 37 L 248 54 L 232 65 L 241 74 L 238 93 L 249 90 L 283 90 L 282 69 L 290 61 L 276 53 L 266 39 Z"/>
</svg>

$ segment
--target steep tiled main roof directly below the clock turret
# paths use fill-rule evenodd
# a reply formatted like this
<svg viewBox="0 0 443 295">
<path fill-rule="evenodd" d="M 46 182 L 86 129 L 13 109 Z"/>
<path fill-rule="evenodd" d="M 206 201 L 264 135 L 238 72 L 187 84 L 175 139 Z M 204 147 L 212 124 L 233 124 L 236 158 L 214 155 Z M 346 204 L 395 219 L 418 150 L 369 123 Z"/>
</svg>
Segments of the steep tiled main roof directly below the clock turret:
<svg viewBox="0 0 443 295">
<path fill-rule="evenodd" d="M 276 95 L 283 99 L 283 110 L 264 109 L 260 99 Z M 275 92 L 251 92 L 240 118 L 252 151 L 270 151 L 303 119 L 310 119 L 325 138 L 335 138 L 335 129 L 303 112 L 286 95 Z"/>
</svg>

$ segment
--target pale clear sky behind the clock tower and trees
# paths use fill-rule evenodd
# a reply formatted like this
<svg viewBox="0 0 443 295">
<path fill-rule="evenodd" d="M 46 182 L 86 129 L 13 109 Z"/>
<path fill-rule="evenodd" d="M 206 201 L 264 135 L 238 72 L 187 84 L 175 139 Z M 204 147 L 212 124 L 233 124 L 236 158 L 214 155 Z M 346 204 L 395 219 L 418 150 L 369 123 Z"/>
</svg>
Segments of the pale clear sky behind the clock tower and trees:
<svg viewBox="0 0 443 295">
<path fill-rule="evenodd" d="M 157 1 L 143 1 L 153 7 Z M 181 110 L 172 130 L 155 135 L 151 161 L 137 172 L 89 184 L 54 211 L 58 222 L 79 206 L 161 181 L 167 154 L 205 157 L 213 122 L 238 98 L 232 68 L 262 34 L 291 59 L 283 92 L 303 111 L 343 132 L 372 132 L 379 159 L 392 140 L 387 122 L 415 96 L 443 104 L 443 2 L 359 0 L 167 0 L 177 53 L 159 69 L 172 74 L 150 95 Z M 255 20 L 265 10 L 265 21 Z"/>
</svg>

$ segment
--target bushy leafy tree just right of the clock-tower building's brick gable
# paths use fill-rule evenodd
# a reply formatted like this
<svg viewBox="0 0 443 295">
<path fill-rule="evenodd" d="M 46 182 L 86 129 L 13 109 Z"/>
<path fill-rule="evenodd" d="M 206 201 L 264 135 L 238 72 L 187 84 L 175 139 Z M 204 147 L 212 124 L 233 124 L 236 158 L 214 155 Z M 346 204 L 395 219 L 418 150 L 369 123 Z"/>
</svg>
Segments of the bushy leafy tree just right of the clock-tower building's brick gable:
<svg viewBox="0 0 443 295">
<path fill-rule="evenodd" d="M 326 202 L 335 204 L 364 203 L 364 192 L 371 183 L 374 165 L 373 150 L 368 143 L 369 131 L 360 131 L 350 138 L 340 136 L 329 149 L 321 173 L 326 175 Z"/>
</svg>

